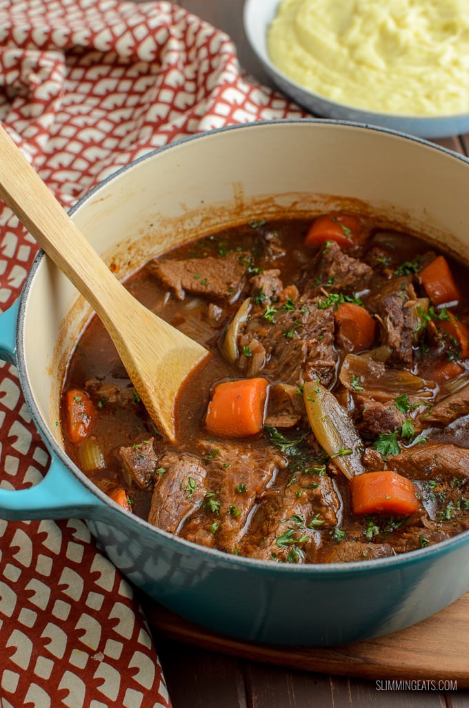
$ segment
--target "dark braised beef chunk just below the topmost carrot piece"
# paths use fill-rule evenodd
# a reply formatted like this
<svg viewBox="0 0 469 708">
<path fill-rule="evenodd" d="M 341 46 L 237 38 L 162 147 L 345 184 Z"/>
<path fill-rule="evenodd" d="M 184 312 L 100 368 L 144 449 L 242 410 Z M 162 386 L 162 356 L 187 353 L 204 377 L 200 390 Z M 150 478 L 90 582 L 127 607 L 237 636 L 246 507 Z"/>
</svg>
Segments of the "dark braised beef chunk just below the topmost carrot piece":
<svg viewBox="0 0 469 708">
<path fill-rule="evenodd" d="M 351 295 L 365 290 L 372 275 L 370 265 L 344 253 L 335 241 L 329 241 L 305 268 L 303 287 L 300 284 L 299 289 L 307 298 L 320 295 L 324 289 Z"/>
</svg>

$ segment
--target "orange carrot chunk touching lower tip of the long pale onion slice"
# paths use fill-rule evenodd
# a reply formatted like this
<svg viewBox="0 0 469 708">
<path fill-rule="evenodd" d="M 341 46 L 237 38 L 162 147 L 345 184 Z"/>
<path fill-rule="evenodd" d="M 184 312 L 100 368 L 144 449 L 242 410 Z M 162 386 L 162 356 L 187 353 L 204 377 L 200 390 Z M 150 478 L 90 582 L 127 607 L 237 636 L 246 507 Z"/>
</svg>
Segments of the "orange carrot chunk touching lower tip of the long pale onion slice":
<svg viewBox="0 0 469 708">
<path fill-rule="evenodd" d="M 412 481 L 392 470 L 358 474 L 351 479 L 350 485 L 352 510 L 356 515 L 408 516 L 419 509 Z"/>
</svg>

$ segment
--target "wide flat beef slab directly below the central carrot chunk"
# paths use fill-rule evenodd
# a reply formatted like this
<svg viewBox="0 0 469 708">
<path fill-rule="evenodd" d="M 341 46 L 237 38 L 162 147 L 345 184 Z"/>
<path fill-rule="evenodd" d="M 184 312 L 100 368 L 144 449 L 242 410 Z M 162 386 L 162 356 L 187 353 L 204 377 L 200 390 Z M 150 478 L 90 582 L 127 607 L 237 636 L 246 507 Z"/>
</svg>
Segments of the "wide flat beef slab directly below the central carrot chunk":
<svg viewBox="0 0 469 708">
<path fill-rule="evenodd" d="M 230 553 L 239 544 L 254 505 L 272 484 L 286 458 L 276 447 L 256 448 L 250 443 L 210 442 L 198 444 L 208 466 L 207 493 L 200 509 L 181 528 L 181 536 Z"/>
</svg>

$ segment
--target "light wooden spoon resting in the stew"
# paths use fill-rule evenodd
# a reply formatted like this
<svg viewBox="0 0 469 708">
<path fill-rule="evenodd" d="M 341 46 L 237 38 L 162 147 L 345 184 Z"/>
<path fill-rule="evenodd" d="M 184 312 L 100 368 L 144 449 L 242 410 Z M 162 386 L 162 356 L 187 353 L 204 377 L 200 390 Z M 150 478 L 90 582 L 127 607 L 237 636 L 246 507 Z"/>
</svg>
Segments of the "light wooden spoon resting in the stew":
<svg viewBox="0 0 469 708">
<path fill-rule="evenodd" d="M 208 351 L 125 290 L 2 127 L 0 195 L 94 308 L 155 425 L 174 441 L 179 389 Z"/>
</svg>

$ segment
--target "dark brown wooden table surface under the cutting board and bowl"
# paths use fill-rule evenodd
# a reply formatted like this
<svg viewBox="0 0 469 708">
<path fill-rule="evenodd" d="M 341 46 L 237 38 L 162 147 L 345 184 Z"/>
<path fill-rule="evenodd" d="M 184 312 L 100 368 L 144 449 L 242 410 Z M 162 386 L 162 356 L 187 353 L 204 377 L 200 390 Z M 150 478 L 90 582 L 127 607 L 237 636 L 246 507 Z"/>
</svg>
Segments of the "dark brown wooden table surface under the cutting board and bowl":
<svg viewBox="0 0 469 708">
<path fill-rule="evenodd" d="M 237 46 L 242 67 L 261 83 L 270 85 L 244 35 L 243 4 L 244 0 L 179 1 L 183 8 L 225 30 Z M 437 142 L 469 154 L 469 135 Z M 465 633 L 468 627 L 460 624 L 458 631 Z M 468 688 L 433 690 L 428 684 L 418 682 L 417 675 L 413 683 L 407 684 L 410 686 L 407 689 L 403 685 L 385 683 L 390 678 L 385 673 L 379 680 L 349 678 L 343 671 L 341 675 L 324 675 L 295 670 L 294 666 L 288 666 L 291 662 L 287 663 L 287 668 L 252 661 L 244 658 L 242 652 L 232 656 L 222 649 L 209 651 L 188 641 L 169 639 L 157 631 L 154 641 L 174 708 L 469 707 Z M 458 642 L 458 633 L 454 641 Z M 435 647 L 439 651 L 438 637 Z M 412 681 L 413 677 L 407 675 L 406 678 Z"/>
</svg>

